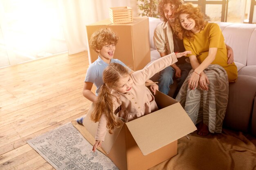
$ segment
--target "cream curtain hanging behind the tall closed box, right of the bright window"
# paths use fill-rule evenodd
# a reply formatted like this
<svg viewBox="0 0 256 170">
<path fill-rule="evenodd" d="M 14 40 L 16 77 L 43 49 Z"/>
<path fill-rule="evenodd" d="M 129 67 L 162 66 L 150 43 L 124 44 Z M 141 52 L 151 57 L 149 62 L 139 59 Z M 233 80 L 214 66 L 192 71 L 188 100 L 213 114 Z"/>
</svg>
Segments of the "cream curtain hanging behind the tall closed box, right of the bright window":
<svg viewBox="0 0 256 170">
<path fill-rule="evenodd" d="M 108 8 L 130 7 L 130 0 L 58 0 L 69 54 L 87 50 L 86 25 L 109 18 Z"/>
</svg>

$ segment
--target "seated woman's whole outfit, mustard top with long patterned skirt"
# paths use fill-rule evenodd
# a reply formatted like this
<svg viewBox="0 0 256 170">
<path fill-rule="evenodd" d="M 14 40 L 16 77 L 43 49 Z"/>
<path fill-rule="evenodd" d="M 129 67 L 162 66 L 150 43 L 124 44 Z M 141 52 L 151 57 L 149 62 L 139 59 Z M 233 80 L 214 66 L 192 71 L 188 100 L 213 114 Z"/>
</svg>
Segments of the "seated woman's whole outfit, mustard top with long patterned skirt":
<svg viewBox="0 0 256 170">
<path fill-rule="evenodd" d="M 214 61 L 204 69 L 210 84 L 209 89 L 202 90 L 200 86 L 194 90 L 188 87 L 188 80 L 193 74 L 190 71 L 184 81 L 176 100 L 180 102 L 194 124 L 203 122 L 211 133 L 221 133 L 222 123 L 225 118 L 229 96 L 229 82 L 237 79 L 238 73 L 234 63 L 227 64 L 227 49 L 224 37 L 218 24 L 208 23 L 195 39 L 183 39 L 184 47 L 190 50 L 202 63 L 208 56 L 209 48 L 218 48 Z"/>
</svg>

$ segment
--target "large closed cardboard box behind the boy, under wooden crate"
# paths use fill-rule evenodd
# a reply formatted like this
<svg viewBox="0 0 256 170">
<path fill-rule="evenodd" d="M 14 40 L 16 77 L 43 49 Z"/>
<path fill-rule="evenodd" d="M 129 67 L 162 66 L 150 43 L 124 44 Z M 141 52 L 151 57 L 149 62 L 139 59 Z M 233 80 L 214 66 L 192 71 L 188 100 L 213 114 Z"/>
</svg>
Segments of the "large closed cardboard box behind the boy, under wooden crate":
<svg viewBox="0 0 256 170">
<path fill-rule="evenodd" d="M 88 42 L 92 33 L 99 28 L 111 28 L 119 36 L 114 58 L 132 70 L 141 70 L 150 62 L 148 17 L 135 17 L 132 23 L 112 24 L 110 19 L 86 26 Z M 89 63 L 98 59 L 98 53 L 88 45 Z"/>
</svg>

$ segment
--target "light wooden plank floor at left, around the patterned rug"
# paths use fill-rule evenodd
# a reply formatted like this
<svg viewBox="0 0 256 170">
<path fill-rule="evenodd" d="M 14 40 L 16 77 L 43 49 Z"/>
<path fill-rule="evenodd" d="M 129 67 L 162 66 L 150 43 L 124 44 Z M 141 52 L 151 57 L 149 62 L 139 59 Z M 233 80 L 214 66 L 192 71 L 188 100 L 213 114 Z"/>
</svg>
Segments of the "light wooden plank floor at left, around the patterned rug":
<svg viewBox="0 0 256 170">
<path fill-rule="evenodd" d="M 83 116 L 88 54 L 59 54 L 0 69 L 0 170 L 54 169 L 27 140 Z"/>
</svg>

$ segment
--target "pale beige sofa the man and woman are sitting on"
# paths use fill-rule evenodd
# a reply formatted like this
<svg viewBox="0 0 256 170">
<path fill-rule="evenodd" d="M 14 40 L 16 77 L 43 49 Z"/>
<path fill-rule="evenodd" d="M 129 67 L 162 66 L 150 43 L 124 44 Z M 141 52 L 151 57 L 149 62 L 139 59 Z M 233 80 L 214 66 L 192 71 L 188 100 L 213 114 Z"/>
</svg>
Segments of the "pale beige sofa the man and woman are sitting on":
<svg viewBox="0 0 256 170">
<path fill-rule="evenodd" d="M 160 57 L 153 42 L 160 19 L 149 17 L 151 61 Z M 225 43 L 234 51 L 238 79 L 229 84 L 229 102 L 223 126 L 256 135 L 256 24 L 218 23 Z M 152 80 L 157 80 L 158 74 Z M 171 96 L 177 86 L 171 86 Z"/>
</svg>

